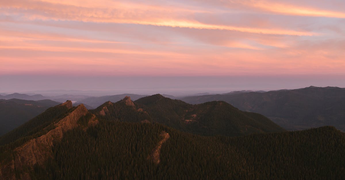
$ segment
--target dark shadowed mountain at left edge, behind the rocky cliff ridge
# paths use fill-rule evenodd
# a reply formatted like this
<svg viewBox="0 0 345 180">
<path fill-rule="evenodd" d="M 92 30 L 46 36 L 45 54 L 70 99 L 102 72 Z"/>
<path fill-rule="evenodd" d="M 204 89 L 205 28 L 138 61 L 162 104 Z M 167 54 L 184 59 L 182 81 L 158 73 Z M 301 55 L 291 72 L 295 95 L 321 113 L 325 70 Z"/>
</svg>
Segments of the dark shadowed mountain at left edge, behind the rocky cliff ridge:
<svg viewBox="0 0 345 180">
<path fill-rule="evenodd" d="M 0 99 L 0 136 L 59 102 L 51 100 Z"/>
</svg>

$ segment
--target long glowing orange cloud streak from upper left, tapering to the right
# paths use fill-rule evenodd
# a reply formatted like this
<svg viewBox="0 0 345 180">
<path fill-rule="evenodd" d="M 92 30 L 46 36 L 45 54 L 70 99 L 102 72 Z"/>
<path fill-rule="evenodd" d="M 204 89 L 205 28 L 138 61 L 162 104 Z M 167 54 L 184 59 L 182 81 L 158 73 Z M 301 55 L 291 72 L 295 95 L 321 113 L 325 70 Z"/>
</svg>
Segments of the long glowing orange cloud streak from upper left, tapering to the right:
<svg viewBox="0 0 345 180">
<path fill-rule="evenodd" d="M 34 10 L 33 14 L 26 14 L 25 18 L 29 20 L 54 19 L 84 22 L 142 24 L 152 26 L 180 27 L 193 29 L 230 30 L 259 34 L 279 34 L 292 36 L 317 35 L 317 33 L 312 32 L 302 32 L 276 28 L 237 27 L 228 25 L 205 24 L 193 19 L 187 19 L 187 17 L 192 17 L 192 14 L 190 12 L 183 13 L 178 10 L 172 11 L 170 9 L 160 8 L 140 10 L 135 6 L 133 8 L 128 7 L 128 9 L 95 9 L 67 5 L 59 7 L 47 2 L 42 4 L 37 1 L 33 1 L 32 3 L 19 3 L 18 1 L 19 0 L 17 0 L 16 2 L 9 1 L 5 3 L 5 5 L 9 8 Z"/>
</svg>

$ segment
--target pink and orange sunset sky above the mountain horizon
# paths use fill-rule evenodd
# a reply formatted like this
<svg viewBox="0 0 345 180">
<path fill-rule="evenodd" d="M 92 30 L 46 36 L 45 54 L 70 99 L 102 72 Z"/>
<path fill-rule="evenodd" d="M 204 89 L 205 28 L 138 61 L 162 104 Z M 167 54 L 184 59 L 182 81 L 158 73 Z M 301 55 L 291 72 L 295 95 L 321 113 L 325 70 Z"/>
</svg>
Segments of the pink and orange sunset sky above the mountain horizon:
<svg viewBox="0 0 345 180">
<path fill-rule="evenodd" d="M 344 0 L 0 0 L 0 92 L 345 87 L 344 9 Z"/>
</svg>

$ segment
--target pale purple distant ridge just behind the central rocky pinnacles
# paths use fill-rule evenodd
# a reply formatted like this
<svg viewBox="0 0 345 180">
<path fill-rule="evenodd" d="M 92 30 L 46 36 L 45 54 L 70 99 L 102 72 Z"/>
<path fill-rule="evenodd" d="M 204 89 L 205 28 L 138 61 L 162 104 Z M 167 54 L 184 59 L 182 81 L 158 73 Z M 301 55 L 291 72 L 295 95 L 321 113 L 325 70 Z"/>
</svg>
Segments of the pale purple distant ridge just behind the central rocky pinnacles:
<svg viewBox="0 0 345 180">
<path fill-rule="evenodd" d="M 147 95 L 139 95 L 139 94 L 118 94 L 118 95 L 112 95 L 112 96 L 101 96 L 101 97 L 89 97 L 85 98 L 83 100 L 77 101 L 77 103 L 83 103 L 88 104 L 92 108 L 97 108 L 101 104 L 107 101 L 111 102 L 117 102 L 121 99 L 123 99 L 126 96 L 130 96 L 133 100 L 145 97 Z"/>
</svg>

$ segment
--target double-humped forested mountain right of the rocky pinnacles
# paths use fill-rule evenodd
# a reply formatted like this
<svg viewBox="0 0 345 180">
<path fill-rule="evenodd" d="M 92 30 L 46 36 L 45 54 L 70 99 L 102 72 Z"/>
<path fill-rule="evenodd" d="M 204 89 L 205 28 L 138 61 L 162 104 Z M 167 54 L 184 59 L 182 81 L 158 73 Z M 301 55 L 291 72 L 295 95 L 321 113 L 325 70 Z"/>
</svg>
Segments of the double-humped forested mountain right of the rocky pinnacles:
<svg viewBox="0 0 345 180">
<path fill-rule="evenodd" d="M 192 105 L 156 94 L 134 102 L 136 107 L 150 114 L 155 122 L 205 136 L 283 131 L 268 118 L 240 111 L 224 101 Z"/>
</svg>

